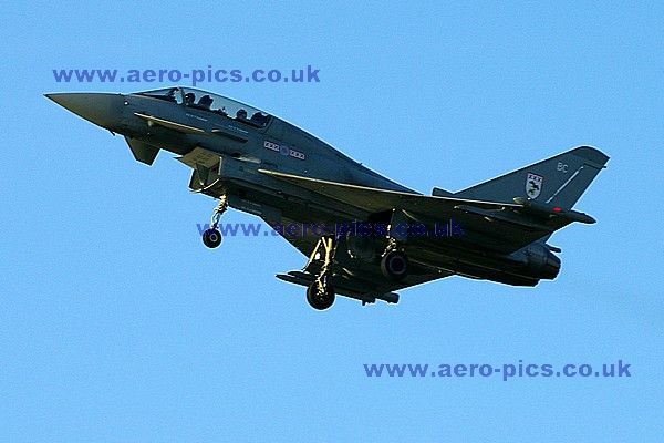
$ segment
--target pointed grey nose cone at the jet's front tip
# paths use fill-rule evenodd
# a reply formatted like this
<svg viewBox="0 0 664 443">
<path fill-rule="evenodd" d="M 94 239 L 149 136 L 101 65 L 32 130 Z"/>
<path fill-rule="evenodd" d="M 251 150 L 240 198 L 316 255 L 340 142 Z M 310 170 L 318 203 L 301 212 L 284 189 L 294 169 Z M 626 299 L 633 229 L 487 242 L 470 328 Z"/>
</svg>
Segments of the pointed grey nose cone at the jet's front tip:
<svg viewBox="0 0 664 443">
<path fill-rule="evenodd" d="M 106 130 L 114 131 L 120 126 L 124 96 L 106 93 L 56 93 L 44 94 L 62 107 Z"/>
</svg>

